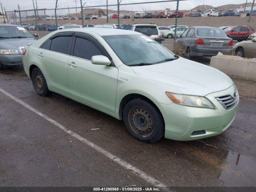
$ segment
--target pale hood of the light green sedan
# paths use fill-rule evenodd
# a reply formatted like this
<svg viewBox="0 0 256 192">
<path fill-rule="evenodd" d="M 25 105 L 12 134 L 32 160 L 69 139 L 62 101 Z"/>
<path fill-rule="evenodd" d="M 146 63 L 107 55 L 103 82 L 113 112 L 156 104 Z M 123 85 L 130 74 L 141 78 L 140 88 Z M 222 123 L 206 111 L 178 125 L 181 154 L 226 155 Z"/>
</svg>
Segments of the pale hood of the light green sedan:
<svg viewBox="0 0 256 192">
<path fill-rule="evenodd" d="M 133 66 L 132 69 L 138 76 L 169 84 L 188 95 L 206 96 L 233 85 L 220 70 L 181 57 L 161 64 Z"/>
</svg>

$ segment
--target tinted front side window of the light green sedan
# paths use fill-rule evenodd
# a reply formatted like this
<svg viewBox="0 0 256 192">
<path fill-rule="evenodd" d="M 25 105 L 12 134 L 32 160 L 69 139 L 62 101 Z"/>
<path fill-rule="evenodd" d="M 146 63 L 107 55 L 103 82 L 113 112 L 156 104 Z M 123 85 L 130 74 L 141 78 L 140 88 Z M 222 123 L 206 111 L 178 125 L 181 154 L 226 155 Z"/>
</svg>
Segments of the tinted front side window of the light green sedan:
<svg viewBox="0 0 256 192">
<path fill-rule="evenodd" d="M 74 56 L 91 60 L 94 55 L 103 55 L 102 52 L 89 40 L 77 37 L 74 47 Z"/>
</svg>

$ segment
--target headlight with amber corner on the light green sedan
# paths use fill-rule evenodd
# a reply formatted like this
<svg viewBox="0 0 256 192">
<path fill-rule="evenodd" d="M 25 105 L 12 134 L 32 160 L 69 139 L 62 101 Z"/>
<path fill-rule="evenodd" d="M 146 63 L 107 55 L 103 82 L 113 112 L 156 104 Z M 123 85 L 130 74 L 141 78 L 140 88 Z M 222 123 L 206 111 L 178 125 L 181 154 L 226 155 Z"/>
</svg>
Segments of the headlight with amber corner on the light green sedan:
<svg viewBox="0 0 256 192">
<path fill-rule="evenodd" d="M 193 96 L 193 95 L 183 95 L 166 92 L 166 95 L 176 104 L 190 106 L 190 107 L 200 107 L 200 108 L 210 108 L 215 109 L 212 103 L 205 97 Z"/>
</svg>

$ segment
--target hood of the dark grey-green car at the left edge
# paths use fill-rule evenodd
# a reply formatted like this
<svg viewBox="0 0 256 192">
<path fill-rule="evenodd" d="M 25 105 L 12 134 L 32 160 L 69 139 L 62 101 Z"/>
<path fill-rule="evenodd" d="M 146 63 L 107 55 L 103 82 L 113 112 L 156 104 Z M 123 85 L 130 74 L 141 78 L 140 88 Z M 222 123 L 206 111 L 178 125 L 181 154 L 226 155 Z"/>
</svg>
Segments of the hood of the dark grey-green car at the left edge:
<svg viewBox="0 0 256 192">
<path fill-rule="evenodd" d="M 19 49 L 19 47 L 24 47 L 27 44 L 34 42 L 36 38 L 10 38 L 10 39 L 0 39 L 1 49 Z M 21 52 L 21 51 L 20 51 Z"/>
</svg>

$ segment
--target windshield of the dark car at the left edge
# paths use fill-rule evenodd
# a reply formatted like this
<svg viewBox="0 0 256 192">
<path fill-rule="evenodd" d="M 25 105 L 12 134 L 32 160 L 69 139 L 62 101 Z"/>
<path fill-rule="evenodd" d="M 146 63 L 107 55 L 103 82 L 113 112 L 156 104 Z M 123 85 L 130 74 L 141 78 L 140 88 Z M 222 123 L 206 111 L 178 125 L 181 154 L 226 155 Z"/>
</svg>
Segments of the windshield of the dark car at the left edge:
<svg viewBox="0 0 256 192">
<path fill-rule="evenodd" d="M 0 26 L 0 38 L 33 38 L 23 27 Z"/>
</svg>

